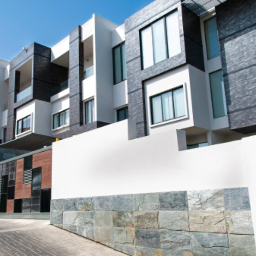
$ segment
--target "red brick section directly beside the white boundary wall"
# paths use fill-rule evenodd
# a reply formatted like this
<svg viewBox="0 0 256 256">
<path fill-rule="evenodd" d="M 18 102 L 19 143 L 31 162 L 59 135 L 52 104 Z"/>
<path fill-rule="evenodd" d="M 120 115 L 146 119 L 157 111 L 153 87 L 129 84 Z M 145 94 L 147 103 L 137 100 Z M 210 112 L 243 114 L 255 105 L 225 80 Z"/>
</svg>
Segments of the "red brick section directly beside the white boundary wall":
<svg viewBox="0 0 256 256">
<path fill-rule="evenodd" d="M 42 167 L 41 189 L 52 187 L 52 150 L 33 155 L 32 168 Z"/>
</svg>

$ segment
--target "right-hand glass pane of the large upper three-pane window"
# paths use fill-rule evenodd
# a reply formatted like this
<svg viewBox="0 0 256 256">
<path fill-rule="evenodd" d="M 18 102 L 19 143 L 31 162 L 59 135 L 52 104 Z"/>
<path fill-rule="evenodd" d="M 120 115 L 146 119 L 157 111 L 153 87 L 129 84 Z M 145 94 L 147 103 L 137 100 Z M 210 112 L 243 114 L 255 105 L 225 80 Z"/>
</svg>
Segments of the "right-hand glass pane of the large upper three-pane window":
<svg viewBox="0 0 256 256">
<path fill-rule="evenodd" d="M 178 12 L 172 13 L 166 17 L 166 30 L 168 41 L 168 57 L 181 53 L 180 29 Z"/>
</svg>

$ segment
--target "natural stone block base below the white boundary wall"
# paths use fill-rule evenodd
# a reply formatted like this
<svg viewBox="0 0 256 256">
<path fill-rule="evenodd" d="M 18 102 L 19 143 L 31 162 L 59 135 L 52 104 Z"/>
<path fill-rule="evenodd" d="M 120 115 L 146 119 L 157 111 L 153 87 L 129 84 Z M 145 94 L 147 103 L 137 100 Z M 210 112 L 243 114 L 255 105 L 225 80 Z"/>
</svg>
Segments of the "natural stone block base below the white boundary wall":
<svg viewBox="0 0 256 256">
<path fill-rule="evenodd" d="M 131 256 L 254 256 L 247 188 L 57 199 L 51 223 Z"/>
</svg>

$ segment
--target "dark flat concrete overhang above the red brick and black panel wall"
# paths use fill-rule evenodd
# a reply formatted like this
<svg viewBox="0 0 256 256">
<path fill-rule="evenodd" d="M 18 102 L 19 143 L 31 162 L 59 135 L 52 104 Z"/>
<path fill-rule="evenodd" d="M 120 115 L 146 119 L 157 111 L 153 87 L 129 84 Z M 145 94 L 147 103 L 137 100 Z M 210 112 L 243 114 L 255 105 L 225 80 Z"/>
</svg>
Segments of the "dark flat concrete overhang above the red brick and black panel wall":
<svg viewBox="0 0 256 256">
<path fill-rule="evenodd" d="M 43 148 L 44 146 L 50 146 L 55 140 L 55 137 L 31 133 L 26 136 L 14 139 L 12 141 L 2 143 L 0 144 L 0 148 L 32 151 Z"/>
</svg>

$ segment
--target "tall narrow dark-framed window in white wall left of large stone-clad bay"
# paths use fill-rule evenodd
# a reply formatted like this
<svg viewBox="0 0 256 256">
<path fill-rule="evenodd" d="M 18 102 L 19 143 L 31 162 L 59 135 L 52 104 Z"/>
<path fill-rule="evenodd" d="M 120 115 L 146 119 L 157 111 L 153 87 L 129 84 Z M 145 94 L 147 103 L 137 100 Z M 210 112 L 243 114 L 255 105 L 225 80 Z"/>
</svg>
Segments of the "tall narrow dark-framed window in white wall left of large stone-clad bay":
<svg viewBox="0 0 256 256">
<path fill-rule="evenodd" d="M 113 48 L 114 84 L 126 80 L 125 44 Z"/>
</svg>

